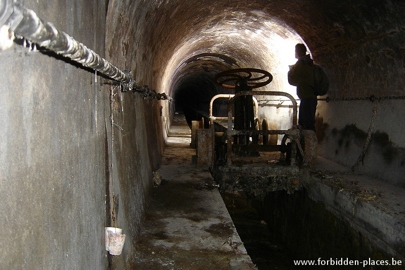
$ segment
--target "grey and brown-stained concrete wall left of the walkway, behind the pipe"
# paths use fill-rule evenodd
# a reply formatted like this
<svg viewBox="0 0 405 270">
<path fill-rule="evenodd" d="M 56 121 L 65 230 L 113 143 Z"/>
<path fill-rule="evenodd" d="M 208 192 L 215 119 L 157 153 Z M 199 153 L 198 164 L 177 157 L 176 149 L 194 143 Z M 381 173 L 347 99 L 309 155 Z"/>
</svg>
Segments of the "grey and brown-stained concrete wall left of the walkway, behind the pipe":
<svg viewBox="0 0 405 270">
<path fill-rule="evenodd" d="M 105 47 L 106 3 L 23 4 L 118 68 L 134 70 Z M 22 43 L 0 52 L 1 267 L 122 269 L 163 149 L 159 103 L 101 85 L 94 71 Z M 114 258 L 104 250 L 110 225 L 127 234 L 123 255 Z"/>
</svg>

